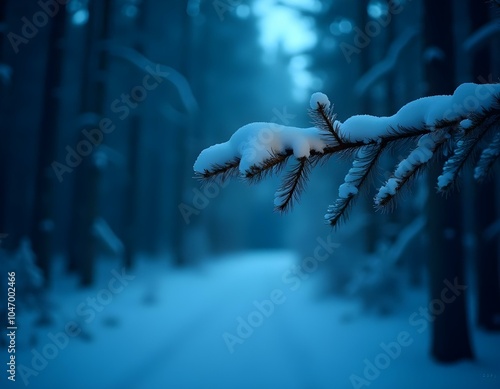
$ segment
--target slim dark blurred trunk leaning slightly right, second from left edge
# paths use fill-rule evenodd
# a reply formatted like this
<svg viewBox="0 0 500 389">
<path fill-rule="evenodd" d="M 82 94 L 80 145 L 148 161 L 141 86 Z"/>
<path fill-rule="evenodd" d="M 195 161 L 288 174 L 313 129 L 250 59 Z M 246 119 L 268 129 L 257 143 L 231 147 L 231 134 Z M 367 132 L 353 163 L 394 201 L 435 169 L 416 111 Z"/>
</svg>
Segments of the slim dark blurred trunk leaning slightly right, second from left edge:
<svg viewBox="0 0 500 389">
<path fill-rule="evenodd" d="M 56 89 L 61 82 L 63 50 L 61 40 L 66 24 L 66 6 L 51 19 L 48 42 L 48 62 L 43 93 L 43 110 L 38 138 L 37 172 L 35 178 L 34 220 L 31 233 L 37 264 L 50 281 L 50 263 L 53 254 L 54 232 L 54 172 L 51 164 L 56 159 L 58 139 L 59 96 Z"/>
</svg>

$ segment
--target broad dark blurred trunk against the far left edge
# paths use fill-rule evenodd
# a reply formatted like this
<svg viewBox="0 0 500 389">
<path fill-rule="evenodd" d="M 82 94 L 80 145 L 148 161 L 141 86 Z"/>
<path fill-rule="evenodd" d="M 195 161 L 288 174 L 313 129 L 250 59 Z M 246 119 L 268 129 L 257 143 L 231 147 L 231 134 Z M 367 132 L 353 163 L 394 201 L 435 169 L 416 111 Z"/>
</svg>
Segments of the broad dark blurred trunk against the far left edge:
<svg viewBox="0 0 500 389">
<path fill-rule="evenodd" d="M 27 43 L 18 37 L 23 16 L 40 10 L 36 2 L 0 2 L 5 25 L 0 63 L 6 66 L 0 77 L 0 234 L 2 247 L 13 250 L 33 233 L 38 131 L 42 122 L 47 55 L 51 22 Z M 33 66 L 33 58 L 37 66 Z M 28 108 L 29 107 L 29 108 Z M 29 110 L 29 114 L 27 114 Z M 22 150 L 23 153 L 20 153 Z"/>
</svg>

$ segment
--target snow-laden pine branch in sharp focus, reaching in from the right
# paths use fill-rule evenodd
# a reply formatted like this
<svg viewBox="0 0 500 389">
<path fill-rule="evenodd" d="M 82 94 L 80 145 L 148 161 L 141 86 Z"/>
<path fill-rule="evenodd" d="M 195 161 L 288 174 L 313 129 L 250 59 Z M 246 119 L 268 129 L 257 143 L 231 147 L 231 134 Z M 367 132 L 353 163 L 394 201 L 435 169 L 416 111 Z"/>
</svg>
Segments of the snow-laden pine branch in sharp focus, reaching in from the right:
<svg viewBox="0 0 500 389">
<path fill-rule="evenodd" d="M 203 182 L 240 177 L 252 183 L 280 173 L 290 159 L 295 159 L 275 194 L 275 209 L 283 212 L 298 200 L 308 172 L 318 162 L 333 155 L 350 156 L 352 167 L 339 187 L 338 199 L 325 215 L 326 221 L 336 226 L 389 147 L 405 141 L 415 144 L 378 189 L 374 198 L 377 208 L 392 204 L 401 189 L 443 150 L 452 153 L 438 179 L 442 192 L 453 186 L 470 157 L 481 151 L 483 139 L 489 138 L 490 143 L 479 158 L 477 179 L 488 174 L 500 155 L 499 84 L 466 83 L 453 95 L 412 101 L 393 116 L 356 115 L 343 123 L 335 119 L 328 97 L 317 92 L 311 96 L 309 113 L 313 127 L 264 122 L 241 127 L 227 142 L 200 153 L 194 164 L 196 177 Z"/>
</svg>

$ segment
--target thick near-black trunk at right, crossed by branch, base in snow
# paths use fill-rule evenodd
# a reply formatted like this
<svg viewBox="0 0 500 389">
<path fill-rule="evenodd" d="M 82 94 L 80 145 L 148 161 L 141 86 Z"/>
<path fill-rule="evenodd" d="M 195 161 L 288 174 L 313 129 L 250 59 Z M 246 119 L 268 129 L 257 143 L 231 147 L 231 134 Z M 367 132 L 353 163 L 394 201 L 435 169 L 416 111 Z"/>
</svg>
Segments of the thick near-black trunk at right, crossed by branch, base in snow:
<svg viewBox="0 0 500 389">
<path fill-rule="evenodd" d="M 425 64 L 427 94 L 450 94 L 455 88 L 453 1 L 425 0 L 424 4 L 424 50 L 432 49 L 442 53 L 433 56 L 433 59 Z M 440 172 L 437 167 L 430 172 L 430 188 L 436 186 Z M 457 288 L 455 299 L 446 298 L 447 301 L 444 301 L 443 298 L 443 295 L 447 295 L 443 291 L 450 289 L 449 283 L 465 285 L 460 204 L 458 195 L 445 199 L 433 190 L 427 202 L 430 244 L 429 308 L 433 319 L 431 354 L 440 362 L 473 358 L 465 292 Z"/>
</svg>

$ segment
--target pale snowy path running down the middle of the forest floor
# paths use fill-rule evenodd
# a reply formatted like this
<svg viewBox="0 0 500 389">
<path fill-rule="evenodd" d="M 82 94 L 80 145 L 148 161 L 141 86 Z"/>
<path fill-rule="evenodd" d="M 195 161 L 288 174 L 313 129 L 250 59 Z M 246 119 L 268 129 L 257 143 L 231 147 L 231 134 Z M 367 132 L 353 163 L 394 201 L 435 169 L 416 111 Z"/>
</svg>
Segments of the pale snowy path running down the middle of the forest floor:
<svg viewBox="0 0 500 389">
<path fill-rule="evenodd" d="M 228 388 L 255 388 L 256 385 L 307 388 L 308 385 L 303 382 L 306 367 L 296 358 L 296 340 L 300 339 L 300 333 L 290 333 L 285 328 L 294 321 L 294 310 L 287 308 L 286 301 L 283 305 L 275 305 L 269 317 L 262 316 L 262 324 L 254 327 L 248 338 L 241 338 L 242 344 L 234 344 L 233 353 L 223 338 L 225 333 L 238 336 L 237 318 L 247 321 L 248 316 L 256 311 L 254 301 L 269 299 L 271 291 L 283 288 L 280 275 L 294 264 L 295 257 L 288 253 L 279 255 L 283 257 L 267 254 L 259 258 L 257 263 L 253 257 L 248 264 L 242 258 L 231 264 L 223 264 L 220 268 L 215 265 L 219 282 L 217 286 L 207 286 L 204 294 L 206 306 L 210 307 L 209 313 L 205 309 L 202 317 L 184 323 L 186 331 L 182 331 L 182 338 L 180 333 L 171 334 L 173 336 L 170 338 L 177 346 L 174 348 L 170 343 L 168 348 L 174 353 L 166 353 L 166 347 L 162 344 L 160 347 L 163 351 L 148 358 L 151 363 L 141 364 L 148 366 L 147 370 L 138 369 L 134 373 L 136 376 L 141 375 L 141 385 L 157 387 L 160 382 L 169 383 L 172 377 L 181 376 L 182 383 L 177 381 L 172 387 L 196 388 L 200 377 L 210 377 L 211 381 L 218 379 L 219 385 L 223 382 L 224 387 Z M 154 369 L 152 366 L 162 368 Z M 253 370 L 251 374 L 249 369 Z M 246 383 L 242 381 L 242 377 L 249 376 L 251 380 Z M 269 382 L 271 377 L 275 377 L 274 383 Z M 124 382 L 137 382 L 135 378 Z M 116 388 L 123 387 L 119 385 Z M 170 386 L 167 384 L 167 387 Z"/>
</svg>

